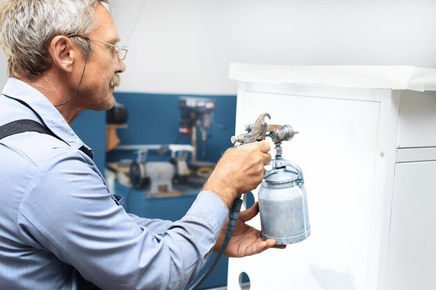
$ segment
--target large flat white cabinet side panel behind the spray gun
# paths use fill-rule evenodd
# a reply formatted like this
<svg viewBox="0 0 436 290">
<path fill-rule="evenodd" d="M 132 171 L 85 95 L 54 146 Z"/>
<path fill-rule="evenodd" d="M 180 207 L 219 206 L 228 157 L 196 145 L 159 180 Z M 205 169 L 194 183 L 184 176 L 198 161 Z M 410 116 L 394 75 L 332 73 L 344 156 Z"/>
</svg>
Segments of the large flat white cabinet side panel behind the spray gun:
<svg viewBox="0 0 436 290">
<path fill-rule="evenodd" d="M 375 266 L 368 264 L 370 243 L 380 239 L 372 214 L 380 102 L 240 92 L 236 128 L 263 112 L 271 114 L 270 124 L 300 132 L 283 143 L 283 155 L 304 172 L 312 234 L 286 250 L 230 259 L 228 289 L 240 289 L 241 272 L 250 290 L 366 289 L 374 283 L 368 282 L 368 267 Z M 260 228 L 258 219 L 252 224 Z"/>
</svg>

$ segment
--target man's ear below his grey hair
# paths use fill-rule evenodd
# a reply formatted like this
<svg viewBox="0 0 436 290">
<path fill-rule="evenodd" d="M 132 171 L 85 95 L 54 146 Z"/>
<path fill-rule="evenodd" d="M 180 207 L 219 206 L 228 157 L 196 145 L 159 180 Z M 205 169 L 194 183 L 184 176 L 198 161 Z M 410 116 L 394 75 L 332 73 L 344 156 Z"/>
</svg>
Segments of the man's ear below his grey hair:
<svg viewBox="0 0 436 290">
<path fill-rule="evenodd" d="M 77 54 L 69 38 L 63 35 L 53 38 L 49 45 L 49 54 L 52 56 L 53 65 L 65 72 L 72 72 Z"/>
</svg>

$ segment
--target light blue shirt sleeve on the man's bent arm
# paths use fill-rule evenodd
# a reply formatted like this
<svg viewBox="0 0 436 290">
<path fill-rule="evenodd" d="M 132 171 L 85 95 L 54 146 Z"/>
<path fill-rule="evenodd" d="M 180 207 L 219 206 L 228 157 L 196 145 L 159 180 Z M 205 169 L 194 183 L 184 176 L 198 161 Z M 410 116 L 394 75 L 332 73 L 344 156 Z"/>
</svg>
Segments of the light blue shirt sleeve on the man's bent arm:
<svg viewBox="0 0 436 290">
<path fill-rule="evenodd" d="M 224 202 L 202 191 L 174 223 L 139 221 L 115 204 L 84 156 L 61 151 L 29 183 L 19 226 L 26 241 L 102 289 L 183 289 L 210 257 L 227 216 Z"/>
</svg>

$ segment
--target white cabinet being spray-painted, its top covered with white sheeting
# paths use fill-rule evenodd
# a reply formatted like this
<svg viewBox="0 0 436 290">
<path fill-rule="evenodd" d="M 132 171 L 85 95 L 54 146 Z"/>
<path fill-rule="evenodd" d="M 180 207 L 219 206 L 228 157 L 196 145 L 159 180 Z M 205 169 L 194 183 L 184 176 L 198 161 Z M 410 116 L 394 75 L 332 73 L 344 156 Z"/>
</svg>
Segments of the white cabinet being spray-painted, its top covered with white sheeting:
<svg viewBox="0 0 436 290">
<path fill-rule="evenodd" d="M 402 67 L 389 70 L 388 84 L 374 69 L 371 77 L 363 67 L 359 79 L 359 67 L 232 68 L 240 81 L 236 134 L 260 113 L 299 131 L 283 156 L 304 172 L 311 236 L 229 259 L 229 290 L 241 289 L 241 273 L 250 290 L 436 289 L 436 95 L 389 88 L 419 87 Z M 319 83 L 322 74 L 329 83 Z M 341 83 L 341 74 L 358 81 Z M 258 217 L 251 225 L 260 229 Z"/>
</svg>

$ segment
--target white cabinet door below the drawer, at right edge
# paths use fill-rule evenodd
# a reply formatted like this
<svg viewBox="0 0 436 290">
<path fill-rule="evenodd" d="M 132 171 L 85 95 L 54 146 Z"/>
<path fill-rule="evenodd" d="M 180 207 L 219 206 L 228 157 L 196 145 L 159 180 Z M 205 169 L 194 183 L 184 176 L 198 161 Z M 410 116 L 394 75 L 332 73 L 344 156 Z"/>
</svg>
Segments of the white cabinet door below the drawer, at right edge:
<svg viewBox="0 0 436 290">
<path fill-rule="evenodd" d="M 436 162 L 396 166 L 387 290 L 436 289 Z"/>
</svg>

